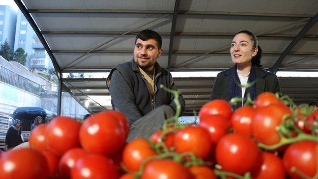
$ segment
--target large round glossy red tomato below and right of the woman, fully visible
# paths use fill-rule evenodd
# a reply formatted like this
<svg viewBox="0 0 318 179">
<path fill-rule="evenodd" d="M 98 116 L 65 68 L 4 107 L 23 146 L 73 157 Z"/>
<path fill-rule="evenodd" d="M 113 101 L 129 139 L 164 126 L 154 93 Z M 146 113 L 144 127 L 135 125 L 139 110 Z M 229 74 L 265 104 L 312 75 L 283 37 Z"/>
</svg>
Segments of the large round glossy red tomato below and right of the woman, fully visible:
<svg viewBox="0 0 318 179">
<path fill-rule="evenodd" d="M 260 162 L 256 142 L 242 134 L 228 134 L 217 144 L 215 155 L 222 169 L 244 175 Z"/>
</svg>

